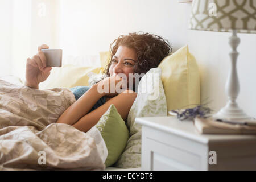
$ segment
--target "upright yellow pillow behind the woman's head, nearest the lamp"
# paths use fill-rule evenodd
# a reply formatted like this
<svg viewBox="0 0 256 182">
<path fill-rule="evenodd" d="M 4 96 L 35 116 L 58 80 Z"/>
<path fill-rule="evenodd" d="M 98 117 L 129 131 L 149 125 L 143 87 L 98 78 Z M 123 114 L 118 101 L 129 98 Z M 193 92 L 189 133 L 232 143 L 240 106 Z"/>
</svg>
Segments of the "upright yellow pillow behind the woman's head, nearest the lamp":
<svg viewBox="0 0 256 182">
<path fill-rule="evenodd" d="M 172 109 L 187 109 L 200 104 L 199 68 L 187 45 L 166 56 L 158 67 L 162 69 L 167 115 Z"/>
</svg>

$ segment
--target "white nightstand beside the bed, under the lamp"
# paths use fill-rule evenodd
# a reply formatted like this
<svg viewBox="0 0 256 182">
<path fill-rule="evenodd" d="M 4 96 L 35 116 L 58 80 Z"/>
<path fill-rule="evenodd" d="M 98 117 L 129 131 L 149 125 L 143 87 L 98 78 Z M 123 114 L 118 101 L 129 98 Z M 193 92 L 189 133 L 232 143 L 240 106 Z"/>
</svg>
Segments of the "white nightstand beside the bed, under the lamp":
<svg viewBox="0 0 256 182">
<path fill-rule="evenodd" d="M 176 117 L 135 122 L 142 125 L 142 170 L 256 170 L 256 135 L 200 134 Z"/>
</svg>

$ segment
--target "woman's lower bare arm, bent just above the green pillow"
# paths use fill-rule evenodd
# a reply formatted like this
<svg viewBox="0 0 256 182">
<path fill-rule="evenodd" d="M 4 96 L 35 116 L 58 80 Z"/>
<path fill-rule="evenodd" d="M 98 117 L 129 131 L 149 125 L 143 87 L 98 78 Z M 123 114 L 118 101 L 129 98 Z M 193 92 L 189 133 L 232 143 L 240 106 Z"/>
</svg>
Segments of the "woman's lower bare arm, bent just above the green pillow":
<svg viewBox="0 0 256 182">
<path fill-rule="evenodd" d="M 76 123 L 72 124 L 72 126 L 76 127 L 76 129 L 80 131 L 87 132 L 94 125 L 96 125 L 96 123 L 100 120 L 101 116 L 109 109 L 109 106 L 111 104 L 115 105 L 122 119 L 126 121 L 131 106 L 133 105 L 133 102 L 137 97 L 136 92 L 129 90 L 131 92 L 129 93 L 127 91 L 128 90 L 118 94 L 117 96 L 107 101 L 104 105 L 98 107 L 89 114 L 84 115 L 84 117 L 79 119 L 79 121 L 77 121 Z"/>
</svg>

